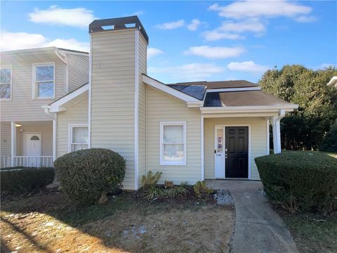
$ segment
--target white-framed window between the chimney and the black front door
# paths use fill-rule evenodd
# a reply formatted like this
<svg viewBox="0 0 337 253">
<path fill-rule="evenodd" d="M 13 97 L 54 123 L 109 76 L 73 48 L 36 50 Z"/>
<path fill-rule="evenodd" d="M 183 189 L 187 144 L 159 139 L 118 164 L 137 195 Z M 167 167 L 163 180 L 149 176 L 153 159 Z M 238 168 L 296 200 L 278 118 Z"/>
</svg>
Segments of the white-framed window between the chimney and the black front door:
<svg viewBox="0 0 337 253">
<path fill-rule="evenodd" d="M 160 123 L 160 164 L 186 165 L 186 123 Z"/>
</svg>

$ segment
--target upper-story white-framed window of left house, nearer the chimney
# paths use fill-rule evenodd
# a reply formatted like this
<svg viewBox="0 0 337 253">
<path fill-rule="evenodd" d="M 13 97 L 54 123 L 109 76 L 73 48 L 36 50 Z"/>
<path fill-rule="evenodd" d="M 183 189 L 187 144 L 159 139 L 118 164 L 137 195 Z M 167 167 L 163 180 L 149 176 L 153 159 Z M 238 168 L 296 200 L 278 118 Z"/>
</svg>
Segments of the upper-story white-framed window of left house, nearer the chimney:
<svg viewBox="0 0 337 253">
<path fill-rule="evenodd" d="M 54 63 L 34 65 L 34 98 L 54 98 Z"/>
</svg>

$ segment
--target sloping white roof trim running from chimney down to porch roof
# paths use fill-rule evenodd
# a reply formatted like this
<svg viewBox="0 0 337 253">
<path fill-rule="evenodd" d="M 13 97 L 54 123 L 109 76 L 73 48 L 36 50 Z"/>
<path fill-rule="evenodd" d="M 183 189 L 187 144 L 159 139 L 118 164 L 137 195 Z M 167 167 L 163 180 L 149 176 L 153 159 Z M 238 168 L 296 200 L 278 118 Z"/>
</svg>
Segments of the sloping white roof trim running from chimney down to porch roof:
<svg viewBox="0 0 337 253">
<path fill-rule="evenodd" d="M 185 102 L 190 103 L 193 105 L 192 107 L 200 107 L 203 103 L 203 101 L 193 98 L 192 96 L 188 96 L 187 94 L 177 91 L 176 89 L 171 88 L 170 86 L 167 86 L 166 84 L 163 84 L 156 79 L 153 79 L 151 77 L 148 77 L 147 75 L 142 75 L 142 80 L 145 82 L 145 84 L 148 84 L 152 86 L 154 89 L 158 89 L 159 91 L 164 91 L 165 93 L 168 93 L 171 96 L 174 96 L 180 100 L 183 100 Z M 189 106 L 190 107 L 190 106 Z"/>
</svg>

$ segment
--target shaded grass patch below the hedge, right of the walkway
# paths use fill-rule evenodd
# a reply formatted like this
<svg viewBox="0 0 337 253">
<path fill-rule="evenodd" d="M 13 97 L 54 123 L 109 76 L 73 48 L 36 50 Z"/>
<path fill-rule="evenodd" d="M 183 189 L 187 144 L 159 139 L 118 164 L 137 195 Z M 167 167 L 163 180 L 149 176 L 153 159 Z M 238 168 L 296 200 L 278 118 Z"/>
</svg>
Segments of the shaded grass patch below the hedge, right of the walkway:
<svg viewBox="0 0 337 253">
<path fill-rule="evenodd" d="M 281 214 L 299 252 L 337 252 L 337 216 Z"/>
</svg>

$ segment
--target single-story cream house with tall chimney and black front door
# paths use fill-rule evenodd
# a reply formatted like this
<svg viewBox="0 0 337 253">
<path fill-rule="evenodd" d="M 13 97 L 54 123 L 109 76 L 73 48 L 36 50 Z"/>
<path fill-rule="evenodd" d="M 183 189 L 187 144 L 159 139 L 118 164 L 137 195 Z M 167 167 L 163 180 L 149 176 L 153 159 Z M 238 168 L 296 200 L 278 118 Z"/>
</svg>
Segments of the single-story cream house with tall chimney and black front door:
<svg viewBox="0 0 337 253">
<path fill-rule="evenodd" d="M 164 84 L 147 75 L 149 37 L 137 16 L 89 25 L 89 82 L 46 103 L 55 157 L 109 148 L 126 159 L 124 188 L 147 171 L 161 181 L 258 180 L 254 158 L 281 152 L 279 122 L 298 105 L 251 82 Z M 12 123 L 12 129 L 14 128 Z"/>
</svg>

